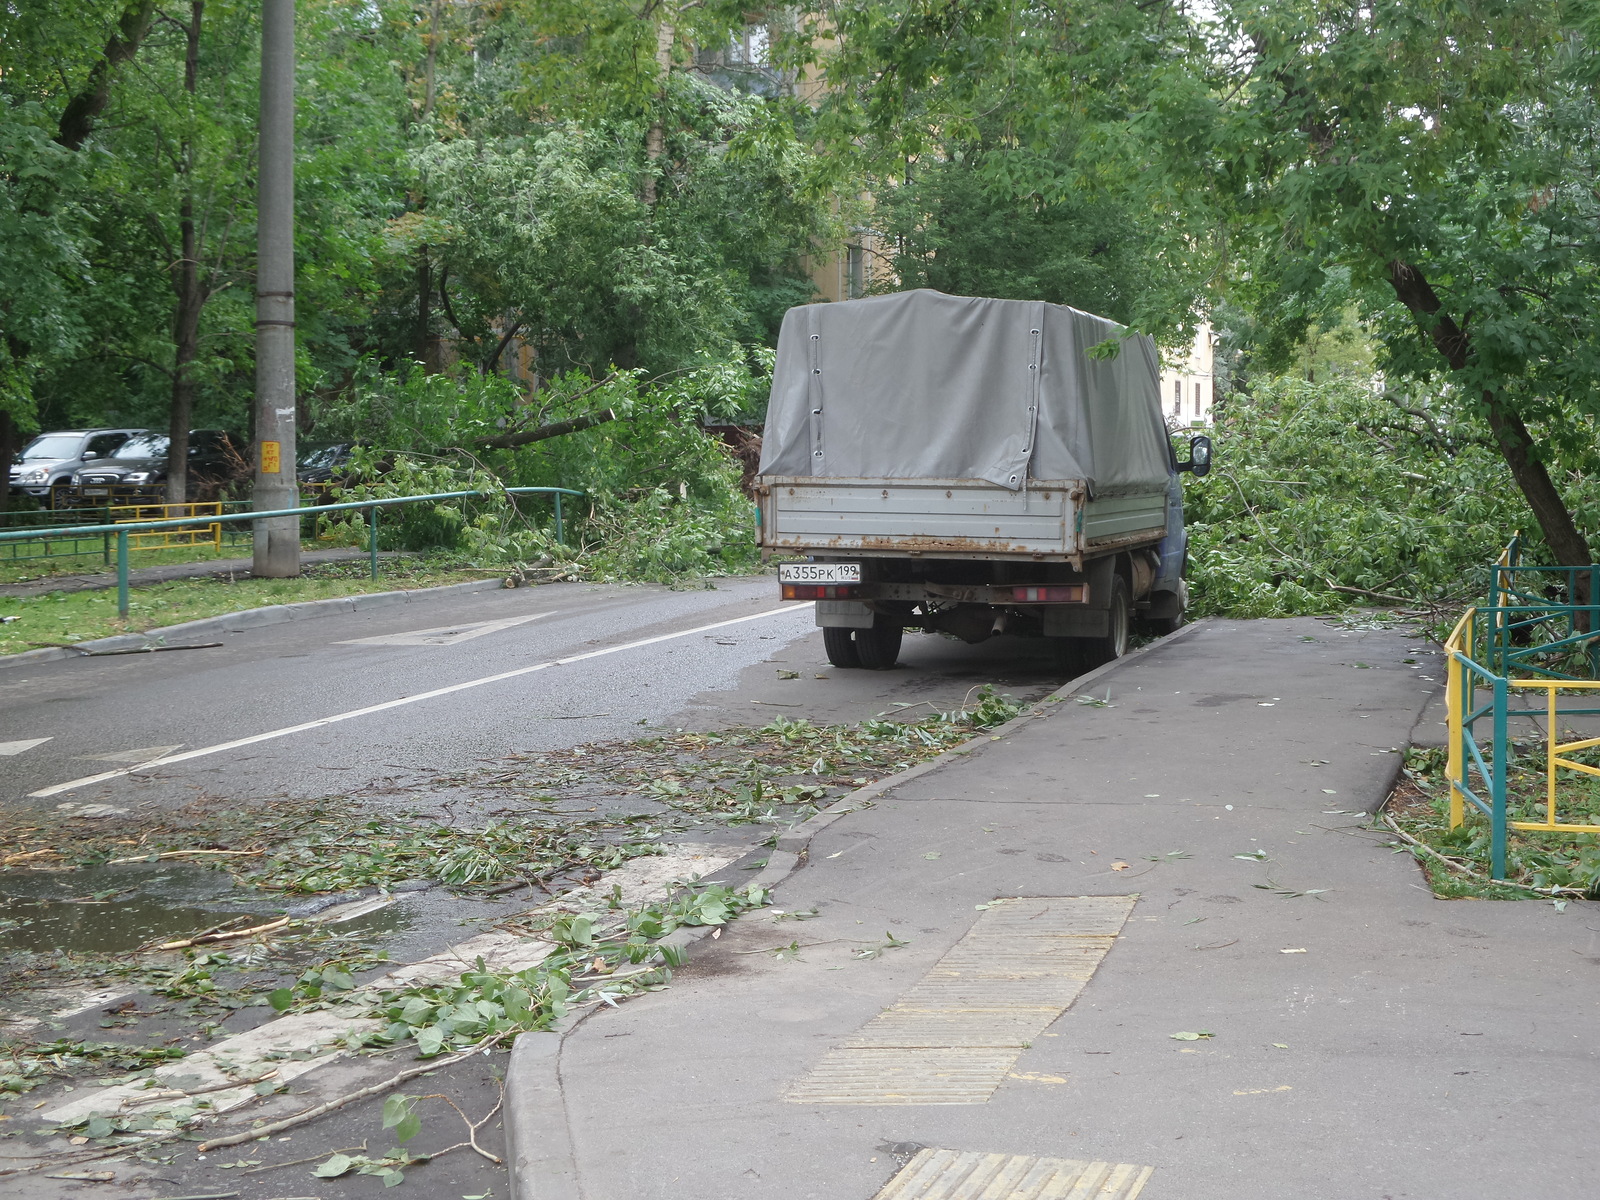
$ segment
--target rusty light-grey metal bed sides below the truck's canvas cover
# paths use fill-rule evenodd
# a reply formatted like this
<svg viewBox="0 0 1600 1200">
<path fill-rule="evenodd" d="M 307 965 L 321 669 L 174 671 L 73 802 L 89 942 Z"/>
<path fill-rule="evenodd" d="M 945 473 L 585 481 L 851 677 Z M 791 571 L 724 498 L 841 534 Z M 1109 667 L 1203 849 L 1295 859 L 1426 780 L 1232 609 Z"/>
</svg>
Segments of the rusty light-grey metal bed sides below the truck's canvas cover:
<svg viewBox="0 0 1600 1200">
<path fill-rule="evenodd" d="M 1083 485 L 1037 480 L 1011 491 L 971 478 L 763 475 L 762 546 L 790 554 L 1082 558 L 1158 541 L 1163 494 L 1082 502 Z"/>
</svg>

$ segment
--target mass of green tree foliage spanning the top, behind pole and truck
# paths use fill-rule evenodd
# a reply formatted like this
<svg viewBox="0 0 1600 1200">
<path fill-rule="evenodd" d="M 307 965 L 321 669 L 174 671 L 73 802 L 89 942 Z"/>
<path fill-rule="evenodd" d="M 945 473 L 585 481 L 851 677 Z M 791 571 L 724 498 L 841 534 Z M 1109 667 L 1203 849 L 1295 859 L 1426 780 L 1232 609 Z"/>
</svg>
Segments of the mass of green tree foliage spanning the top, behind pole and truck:
<svg viewBox="0 0 1600 1200">
<path fill-rule="evenodd" d="M 850 240 L 880 290 L 1050 299 L 1170 347 L 1210 317 L 1235 411 L 1358 363 L 1371 411 L 1470 430 L 1550 555 L 1590 555 L 1587 3 L 298 13 L 310 440 L 685 499 L 720 459 L 674 430 L 760 410 L 782 312 Z M 40 422 L 248 434 L 258 40 L 250 0 L 0 10 L 0 451 Z M 626 416 L 573 446 L 485 432 L 605 397 Z"/>
</svg>

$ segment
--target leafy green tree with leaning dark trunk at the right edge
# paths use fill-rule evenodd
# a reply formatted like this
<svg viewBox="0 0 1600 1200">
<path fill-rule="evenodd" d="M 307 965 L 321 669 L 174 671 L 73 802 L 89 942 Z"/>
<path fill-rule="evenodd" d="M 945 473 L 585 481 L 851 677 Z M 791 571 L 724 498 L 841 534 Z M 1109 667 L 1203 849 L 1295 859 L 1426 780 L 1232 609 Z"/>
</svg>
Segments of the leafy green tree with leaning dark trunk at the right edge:
<svg viewBox="0 0 1600 1200">
<path fill-rule="evenodd" d="M 1600 59 L 1582 8 L 1216 13 L 1160 128 L 1229 222 L 1262 320 L 1293 342 L 1347 272 L 1386 373 L 1485 421 L 1550 554 L 1590 562 L 1550 470 L 1600 411 Z"/>
</svg>

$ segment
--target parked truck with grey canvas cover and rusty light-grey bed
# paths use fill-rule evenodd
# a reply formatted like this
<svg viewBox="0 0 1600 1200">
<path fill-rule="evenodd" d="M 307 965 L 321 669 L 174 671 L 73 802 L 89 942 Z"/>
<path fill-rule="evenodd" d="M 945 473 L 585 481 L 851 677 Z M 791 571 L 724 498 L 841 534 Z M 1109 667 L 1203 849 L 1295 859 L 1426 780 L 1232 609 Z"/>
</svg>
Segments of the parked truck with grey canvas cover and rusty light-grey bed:
<svg viewBox="0 0 1600 1200">
<path fill-rule="evenodd" d="M 1181 472 L 1142 334 L 1038 301 L 904 291 L 790 309 L 760 474 L 763 557 L 837 667 L 907 629 L 1059 638 L 1077 669 L 1184 614 Z"/>
</svg>

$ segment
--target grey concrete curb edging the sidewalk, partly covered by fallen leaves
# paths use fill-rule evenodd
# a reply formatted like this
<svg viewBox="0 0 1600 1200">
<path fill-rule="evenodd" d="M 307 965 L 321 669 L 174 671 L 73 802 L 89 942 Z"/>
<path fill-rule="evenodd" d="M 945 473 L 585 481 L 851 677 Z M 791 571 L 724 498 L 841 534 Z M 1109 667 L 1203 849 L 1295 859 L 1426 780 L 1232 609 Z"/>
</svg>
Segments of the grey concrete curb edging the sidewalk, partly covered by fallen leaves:
<svg viewBox="0 0 1600 1200">
<path fill-rule="evenodd" d="M 1005 739 L 1006 734 L 1016 733 L 1029 722 L 1048 718 L 1062 702 L 1082 694 L 1104 675 L 1144 658 L 1157 648 L 1176 645 L 1205 629 L 1210 622 L 1210 618 L 1202 618 L 1182 626 L 1166 637 L 1155 638 L 1130 654 L 1123 654 L 1064 683 L 1038 701 L 1029 712 L 1008 720 L 1005 725 L 997 725 L 960 746 L 952 746 L 925 763 L 907 766 L 904 771 L 846 792 L 821 813 L 806 818 L 790 827 L 789 832 L 781 834 L 776 848 L 766 858 L 766 866 L 762 867 L 762 872 L 750 883 L 768 890 L 776 888 L 806 861 L 811 840 L 842 816 L 856 813 L 885 792 L 930 774 L 946 763 L 970 755 L 976 749 Z M 662 938 L 662 941 L 675 946 L 688 946 L 709 933 L 710 926 L 685 926 Z M 552 1026 L 549 1032 L 523 1034 L 512 1043 L 510 1062 L 506 1067 L 504 1099 L 506 1170 L 510 1176 L 512 1200 L 582 1200 L 573 1128 L 566 1115 L 566 1099 L 562 1094 L 562 1043 L 592 1011 L 595 1010 L 587 1008 L 582 1013 L 571 1013 Z M 526 1050 L 523 1048 L 525 1043 Z"/>
</svg>

